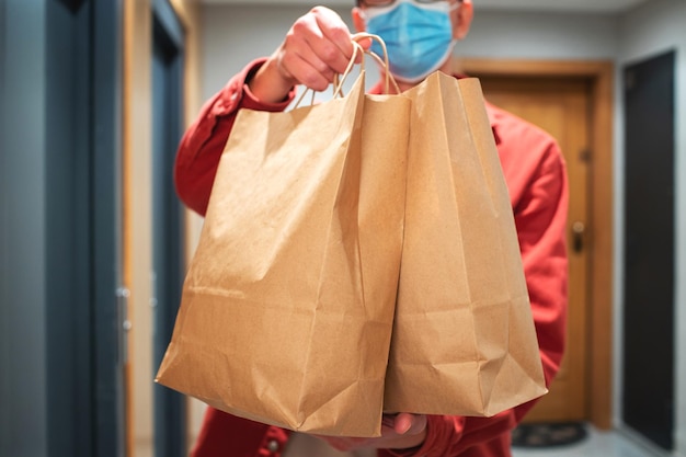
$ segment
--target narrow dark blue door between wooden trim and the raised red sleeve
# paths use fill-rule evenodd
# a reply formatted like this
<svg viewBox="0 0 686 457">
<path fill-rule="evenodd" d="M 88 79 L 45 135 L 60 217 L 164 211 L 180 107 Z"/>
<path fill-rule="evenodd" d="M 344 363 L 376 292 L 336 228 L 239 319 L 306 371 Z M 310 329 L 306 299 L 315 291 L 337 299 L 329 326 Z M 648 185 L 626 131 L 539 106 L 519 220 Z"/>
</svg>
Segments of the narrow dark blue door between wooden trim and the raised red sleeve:
<svg viewBox="0 0 686 457">
<path fill-rule="evenodd" d="M 173 165 L 182 134 L 183 31 L 165 0 L 153 1 L 152 24 L 152 261 L 153 370 L 171 340 L 183 284 L 182 208 Z M 155 455 L 185 456 L 185 397 L 155 386 Z"/>
</svg>

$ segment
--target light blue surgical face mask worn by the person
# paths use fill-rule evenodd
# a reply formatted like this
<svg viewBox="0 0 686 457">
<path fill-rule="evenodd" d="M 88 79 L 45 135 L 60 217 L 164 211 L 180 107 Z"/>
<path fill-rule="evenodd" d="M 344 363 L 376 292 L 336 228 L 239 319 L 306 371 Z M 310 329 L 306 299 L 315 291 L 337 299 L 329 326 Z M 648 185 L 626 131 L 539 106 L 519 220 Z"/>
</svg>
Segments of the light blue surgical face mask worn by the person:
<svg viewBox="0 0 686 457">
<path fill-rule="evenodd" d="M 386 43 L 390 72 L 397 80 L 419 82 L 445 64 L 455 46 L 450 10 L 447 1 L 419 4 L 411 0 L 365 10 L 367 32 Z M 384 55 L 376 42 L 371 50 Z"/>
</svg>

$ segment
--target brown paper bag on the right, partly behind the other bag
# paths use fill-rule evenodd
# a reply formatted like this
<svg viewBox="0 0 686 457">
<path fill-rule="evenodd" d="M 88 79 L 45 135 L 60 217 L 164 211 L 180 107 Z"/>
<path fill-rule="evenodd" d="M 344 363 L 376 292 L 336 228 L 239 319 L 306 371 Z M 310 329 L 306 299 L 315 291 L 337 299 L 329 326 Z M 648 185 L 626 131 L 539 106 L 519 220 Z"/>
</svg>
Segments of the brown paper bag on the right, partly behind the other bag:
<svg viewBox="0 0 686 457">
<path fill-rule="evenodd" d="M 546 392 L 507 187 L 477 79 L 412 100 L 387 411 L 490 416 Z"/>
</svg>

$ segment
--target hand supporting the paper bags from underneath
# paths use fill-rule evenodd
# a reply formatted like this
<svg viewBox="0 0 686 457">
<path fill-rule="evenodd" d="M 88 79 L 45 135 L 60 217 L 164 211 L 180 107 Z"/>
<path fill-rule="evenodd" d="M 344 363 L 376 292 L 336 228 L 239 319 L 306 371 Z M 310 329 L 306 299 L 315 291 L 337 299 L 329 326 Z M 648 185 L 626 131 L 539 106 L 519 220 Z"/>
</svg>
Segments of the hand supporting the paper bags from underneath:
<svg viewBox="0 0 686 457">
<path fill-rule="evenodd" d="M 384 414 L 381 436 L 376 438 L 318 437 L 341 452 L 356 449 L 407 449 L 424 443 L 426 438 L 426 416 L 409 413 Z"/>
</svg>

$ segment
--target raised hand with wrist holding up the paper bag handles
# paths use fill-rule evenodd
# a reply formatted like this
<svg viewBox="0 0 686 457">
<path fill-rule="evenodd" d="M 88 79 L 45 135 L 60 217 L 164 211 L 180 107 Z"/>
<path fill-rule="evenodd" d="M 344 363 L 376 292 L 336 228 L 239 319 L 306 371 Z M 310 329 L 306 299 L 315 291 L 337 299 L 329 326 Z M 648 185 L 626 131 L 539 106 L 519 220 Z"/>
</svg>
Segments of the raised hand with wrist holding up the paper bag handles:
<svg viewBox="0 0 686 457">
<path fill-rule="evenodd" d="M 265 102 L 283 101 L 296 84 L 323 91 L 347 68 L 354 54 L 352 39 L 339 14 L 315 7 L 293 24 L 282 45 L 249 82 L 250 89 Z M 367 48 L 370 43 L 361 45 Z"/>
</svg>

